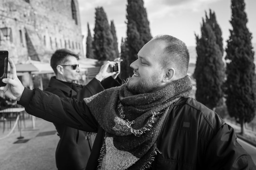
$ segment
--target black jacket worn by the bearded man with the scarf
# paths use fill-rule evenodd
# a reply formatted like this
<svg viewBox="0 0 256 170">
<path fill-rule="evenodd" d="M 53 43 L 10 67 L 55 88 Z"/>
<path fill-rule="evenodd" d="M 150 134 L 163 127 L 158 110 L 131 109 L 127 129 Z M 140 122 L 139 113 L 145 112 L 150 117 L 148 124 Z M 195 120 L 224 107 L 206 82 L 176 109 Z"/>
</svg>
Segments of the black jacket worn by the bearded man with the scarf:
<svg viewBox="0 0 256 170">
<path fill-rule="evenodd" d="M 84 102 L 25 88 L 18 104 L 29 114 L 50 122 L 90 132 L 101 129 Z M 96 137 L 101 145 L 103 134 Z M 96 139 L 93 149 L 99 150 Z M 157 145 L 162 154 L 157 154 L 151 169 L 256 169 L 251 156 L 237 142 L 233 128 L 192 98 L 181 98 L 174 104 Z M 92 151 L 86 169 L 97 168 L 98 155 Z"/>
</svg>

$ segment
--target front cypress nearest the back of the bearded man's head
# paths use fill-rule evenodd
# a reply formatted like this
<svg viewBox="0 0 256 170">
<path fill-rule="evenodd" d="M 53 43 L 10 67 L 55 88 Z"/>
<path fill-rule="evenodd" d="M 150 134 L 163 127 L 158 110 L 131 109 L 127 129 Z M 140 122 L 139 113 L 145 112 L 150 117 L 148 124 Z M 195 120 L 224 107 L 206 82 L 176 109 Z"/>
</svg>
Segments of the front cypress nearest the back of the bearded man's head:
<svg viewBox="0 0 256 170">
<path fill-rule="evenodd" d="M 196 35 L 196 99 L 210 109 L 223 103 L 224 62 L 211 25 L 203 20 L 201 38 Z"/>
</svg>

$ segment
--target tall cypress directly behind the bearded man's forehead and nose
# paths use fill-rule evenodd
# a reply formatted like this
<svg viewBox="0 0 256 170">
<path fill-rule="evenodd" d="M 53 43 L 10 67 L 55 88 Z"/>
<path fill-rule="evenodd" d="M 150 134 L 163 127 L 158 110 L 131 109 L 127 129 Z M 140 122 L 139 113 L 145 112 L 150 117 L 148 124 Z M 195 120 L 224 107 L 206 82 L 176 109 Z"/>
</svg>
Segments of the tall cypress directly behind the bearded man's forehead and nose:
<svg viewBox="0 0 256 170">
<path fill-rule="evenodd" d="M 127 56 L 129 56 L 127 63 L 130 65 L 138 58 L 138 51 L 151 40 L 152 36 L 143 0 L 128 0 L 127 2 L 127 38 L 125 44 Z M 129 69 L 126 77 L 132 75 L 133 70 Z"/>
</svg>

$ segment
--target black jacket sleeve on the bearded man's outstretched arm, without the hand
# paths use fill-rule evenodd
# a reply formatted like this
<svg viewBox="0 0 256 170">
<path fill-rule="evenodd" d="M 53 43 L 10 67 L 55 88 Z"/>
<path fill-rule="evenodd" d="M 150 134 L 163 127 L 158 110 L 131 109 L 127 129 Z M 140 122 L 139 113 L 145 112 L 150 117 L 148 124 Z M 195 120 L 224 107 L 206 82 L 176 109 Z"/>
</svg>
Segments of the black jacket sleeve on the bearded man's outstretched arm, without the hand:
<svg viewBox="0 0 256 170">
<path fill-rule="evenodd" d="M 28 114 L 46 121 L 65 124 L 87 132 L 97 132 L 98 123 L 84 101 L 60 98 L 40 89 L 25 88 L 17 104 L 25 107 Z"/>
</svg>

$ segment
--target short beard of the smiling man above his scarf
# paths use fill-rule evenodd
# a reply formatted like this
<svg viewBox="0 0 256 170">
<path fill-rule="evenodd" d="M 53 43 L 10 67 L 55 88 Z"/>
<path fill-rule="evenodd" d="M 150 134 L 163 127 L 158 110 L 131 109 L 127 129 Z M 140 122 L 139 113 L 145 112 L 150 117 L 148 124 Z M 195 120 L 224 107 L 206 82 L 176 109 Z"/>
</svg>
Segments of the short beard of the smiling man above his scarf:
<svg viewBox="0 0 256 170">
<path fill-rule="evenodd" d="M 160 89 L 160 75 L 153 76 L 150 80 L 141 79 L 131 83 L 132 77 L 127 78 L 126 86 L 133 94 L 151 93 Z"/>
</svg>

